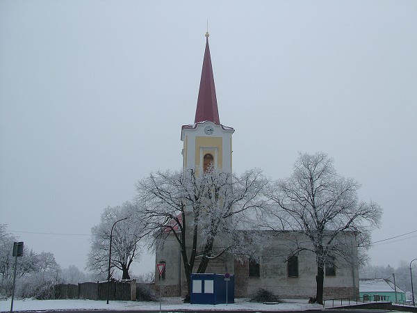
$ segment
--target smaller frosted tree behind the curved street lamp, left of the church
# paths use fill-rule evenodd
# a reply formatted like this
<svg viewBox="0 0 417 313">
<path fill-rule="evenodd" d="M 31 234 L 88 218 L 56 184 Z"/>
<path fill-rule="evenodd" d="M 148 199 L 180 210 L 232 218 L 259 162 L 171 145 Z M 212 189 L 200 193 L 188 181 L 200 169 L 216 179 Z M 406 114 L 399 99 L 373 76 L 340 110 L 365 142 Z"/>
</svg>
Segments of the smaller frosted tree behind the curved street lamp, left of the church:
<svg viewBox="0 0 417 313">
<path fill-rule="evenodd" d="M 131 202 L 104 209 L 101 222 L 91 229 L 92 242 L 87 261 L 90 271 L 97 274 L 108 271 L 111 229 L 117 220 L 126 218 L 113 227 L 111 276 L 114 268 L 119 268 L 122 271 L 122 279 L 130 279 L 129 268 L 132 262 L 140 257 L 139 241 L 144 236 L 142 223 L 136 218 L 136 211 L 135 205 Z"/>
</svg>

